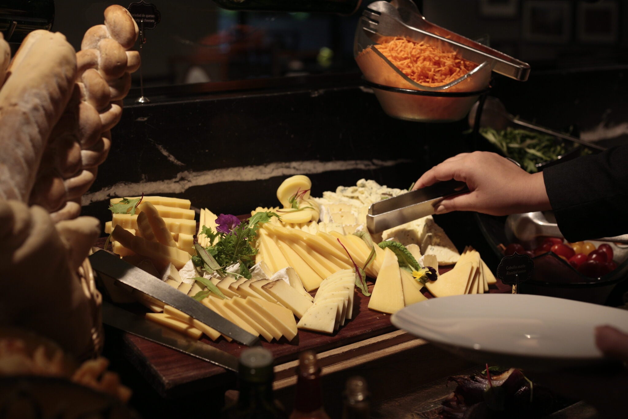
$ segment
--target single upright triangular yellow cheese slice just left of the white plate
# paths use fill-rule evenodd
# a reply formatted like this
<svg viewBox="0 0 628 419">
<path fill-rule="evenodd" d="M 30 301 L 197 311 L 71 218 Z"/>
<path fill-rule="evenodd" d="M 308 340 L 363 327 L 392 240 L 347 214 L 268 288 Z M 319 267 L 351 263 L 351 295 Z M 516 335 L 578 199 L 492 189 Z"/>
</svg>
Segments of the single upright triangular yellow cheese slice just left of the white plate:
<svg viewBox="0 0 628 419">
<path fill-rule="evenodd" d="M 397 256 L 390 248 L 384 249 L 384 261 L 371 293 L 369 308 L 382 313 L 396 313 L 404 308 L 403 285 Z"/>
</svg>

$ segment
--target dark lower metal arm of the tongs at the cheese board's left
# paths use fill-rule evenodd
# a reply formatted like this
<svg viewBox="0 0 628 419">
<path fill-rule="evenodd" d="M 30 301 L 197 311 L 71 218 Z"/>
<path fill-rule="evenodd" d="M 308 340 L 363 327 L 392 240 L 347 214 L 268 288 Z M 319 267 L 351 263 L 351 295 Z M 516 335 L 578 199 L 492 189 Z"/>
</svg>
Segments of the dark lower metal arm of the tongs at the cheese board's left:
<svg viewBox="0 0 628 419">
<path fill-rule="evenodd" d="M 203 361 L 212 362 L 231 371 L 237 371 L 238 361 L 233 355 L 211 345 L 180 335 L 167 327 L 149 322 L 107 301 L 102 302 L 102 322 L 160 345 L 176 349 Z"/>
</svg>

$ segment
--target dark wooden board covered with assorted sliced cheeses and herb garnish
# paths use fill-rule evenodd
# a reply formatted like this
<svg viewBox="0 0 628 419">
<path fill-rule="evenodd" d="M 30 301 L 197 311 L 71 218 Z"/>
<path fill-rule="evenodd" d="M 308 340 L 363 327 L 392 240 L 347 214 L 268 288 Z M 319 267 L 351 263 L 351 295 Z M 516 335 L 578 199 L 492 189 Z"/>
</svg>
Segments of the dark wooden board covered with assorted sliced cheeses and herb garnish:
<svg viewBox="0 0 628 419">
<path fill-rule="evenodd" d="M 369 234 L 369 205 L 403 190 L 360 180 L 317 199 L 310 189 L 309 178 L 290 177 L 277 191 L 283 207 L 257 207 L 238 217 L 200 209 L 198 222 L 189 200 L 112 199 L 112 221 L 105 228 L 111 236 L 98 244 L 161 278 L 171 292 L 181 291 L 259 336 L 278 366 L 305 350 L 354 345 L 364 346 L 364 354 L 381 351 L 362 342 L 396 333 L 390 315 L 428 298 L 511 290 L 495 281 L 473 248 L 460 255 L 431 216 Z M 231 356 L 246 348 L 140 290 L 117 303 L 137 301 L 150 310 L 146 320 Z M 115 300 L 111 285 L 107 291 Z M 132 310 L 146 312 L 134 304 Z M 141 337 L 124 334 L 123 341 L 133 363 L 164 396 L 234 381 L 222 367 Z"/>
</svg>

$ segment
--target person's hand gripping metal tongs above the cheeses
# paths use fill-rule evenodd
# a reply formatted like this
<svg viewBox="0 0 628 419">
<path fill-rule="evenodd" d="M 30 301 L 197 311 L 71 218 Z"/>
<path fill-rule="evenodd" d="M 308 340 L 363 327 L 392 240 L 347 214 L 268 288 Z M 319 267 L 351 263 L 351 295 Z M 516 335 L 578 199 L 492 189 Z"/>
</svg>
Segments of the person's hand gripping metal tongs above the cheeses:
<svg viewBox="0 0 628 419">
<path fill-rule="evenodd" d="M 491 215 L 549 210 L 543 173 L 531 175 L 495 153 L 462 153 L 423 173 L 413 190 L 445 180 L 467 183 L 468 193 L 444 199 L 436 214 L 477 211 Z"/>
</svg>

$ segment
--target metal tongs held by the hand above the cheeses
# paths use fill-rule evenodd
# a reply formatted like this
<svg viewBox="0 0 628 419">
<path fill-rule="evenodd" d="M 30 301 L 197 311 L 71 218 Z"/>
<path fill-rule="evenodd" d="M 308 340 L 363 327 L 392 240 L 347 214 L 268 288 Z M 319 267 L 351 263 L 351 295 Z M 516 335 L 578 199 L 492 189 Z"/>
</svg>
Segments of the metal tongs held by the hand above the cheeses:
<svg viewBox="0 0 628 419">
<path fill-rule="evenodd" d="M 469 192 L 467 184 L 447 180 L 413 190 L 393 198 L 371 204 L 366 215 L 366 227 L 371 233 L 379 233 L 406 222 L 434 214 L 436 205 L 450 196 Z"/>
</svg>

